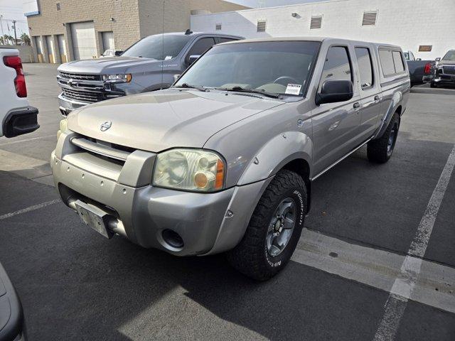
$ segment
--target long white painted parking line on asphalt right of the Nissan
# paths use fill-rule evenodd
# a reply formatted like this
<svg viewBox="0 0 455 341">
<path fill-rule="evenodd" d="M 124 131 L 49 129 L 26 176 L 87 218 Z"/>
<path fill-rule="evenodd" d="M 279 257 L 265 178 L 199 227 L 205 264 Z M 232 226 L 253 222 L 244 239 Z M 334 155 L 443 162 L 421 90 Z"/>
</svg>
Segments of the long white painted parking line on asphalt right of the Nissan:
<svg viewBox="0 0 455 341">
<path fill-rule="evenodd" d="M 375 341 L 395 340 L 395 335 L 400 326 L 400 320 L 405 313 L 407 301 L 410 298 L 414 299 L 412 293 L 419 276 L 421 276 L 420 270 L 422 269 L 423 262 L 421 258 L 416 257 L 423 257 L 425 251 L 427 251 L 434 222 L 436 221 L 439 207 L 441 207 L 441 202 L 444 199 L 444 194 L 446 193 L 447 185 L 449 185 L 454 167 L 455 146 L 452 148 L 446 166 L 444 166 L 432 197 L 430 197 L 427 209 L 424 212 L 424 216 L 420 221 L 417 233 L 408 251 L 408 256 L 406 256 L 401 266 L 400 275 L 395 280 L 390 291 L 390 296 L 385 303 L 385 313 L 375 334 Z M 452 283 L 454 282 L 452 281 Z"/>
</svg>

